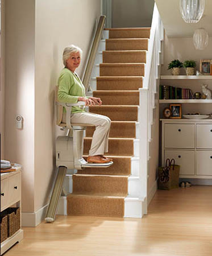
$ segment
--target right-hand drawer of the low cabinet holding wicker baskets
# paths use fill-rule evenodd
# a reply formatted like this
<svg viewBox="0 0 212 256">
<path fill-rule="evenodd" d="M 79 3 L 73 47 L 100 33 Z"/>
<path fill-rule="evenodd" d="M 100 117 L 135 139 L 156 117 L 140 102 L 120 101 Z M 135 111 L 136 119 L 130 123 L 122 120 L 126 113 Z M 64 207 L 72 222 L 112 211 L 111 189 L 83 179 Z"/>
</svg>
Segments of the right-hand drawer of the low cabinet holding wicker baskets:
<svg viewBox="0 0 212 256">
<path fill-rule="evenodd" d="M 20 174 L 9 177 L 9 203 L 20 200 Z"/>
</svg>

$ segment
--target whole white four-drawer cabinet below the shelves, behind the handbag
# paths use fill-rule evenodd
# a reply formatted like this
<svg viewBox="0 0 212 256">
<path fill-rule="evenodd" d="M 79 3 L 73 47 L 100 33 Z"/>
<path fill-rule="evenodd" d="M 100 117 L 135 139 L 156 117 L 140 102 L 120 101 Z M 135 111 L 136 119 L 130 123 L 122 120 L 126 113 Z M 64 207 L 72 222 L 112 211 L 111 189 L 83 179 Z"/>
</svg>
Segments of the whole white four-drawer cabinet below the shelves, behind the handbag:
<svg viewBox="0 0 212 256">
<path fill-rule="evenodd" d="M 212 179 L 212 119 L 161 119 L 162 164 L 174 158 L 180 177 Z"/>
</svg>

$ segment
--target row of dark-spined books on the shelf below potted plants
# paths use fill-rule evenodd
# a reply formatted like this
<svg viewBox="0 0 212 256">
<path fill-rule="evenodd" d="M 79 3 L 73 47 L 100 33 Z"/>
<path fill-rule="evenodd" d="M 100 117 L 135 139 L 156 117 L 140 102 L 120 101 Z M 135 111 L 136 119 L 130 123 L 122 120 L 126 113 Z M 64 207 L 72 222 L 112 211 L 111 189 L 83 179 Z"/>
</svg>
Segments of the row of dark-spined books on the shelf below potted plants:
<svg viewBox="0 0 212 256">
<path fill-rule="evenodd" d="M 160 100 L 189 100 L 194 98 L 191 89 L 171 85 L 160 85 L 159 94 Z"/>
</svg>

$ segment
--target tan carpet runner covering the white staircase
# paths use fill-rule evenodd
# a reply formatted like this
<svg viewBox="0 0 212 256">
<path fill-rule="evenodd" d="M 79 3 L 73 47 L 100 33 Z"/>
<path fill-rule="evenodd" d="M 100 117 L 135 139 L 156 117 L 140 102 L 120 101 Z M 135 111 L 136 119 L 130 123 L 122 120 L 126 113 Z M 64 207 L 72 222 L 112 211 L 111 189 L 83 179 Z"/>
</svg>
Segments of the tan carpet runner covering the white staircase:
<svg viewBox="0 0 212 256">
<path fill-rule="evenodd" d="M 109 168 L 85 168 L 73 175 L 73 193 L 67 197 L 70 215 L 124 216 L 138 121 L 138 89 L 142 87 L 149 34 L 150 28 L 109 29 L 97 90 L 93 92 L 103 105 L 91 107 L 89 111 L 107 115 L 112 121 L 107 155 L 113 158 L 114 164 Z M 85 157 L 93 131 L 94 127 L 86 129 Z"/>
</svg>

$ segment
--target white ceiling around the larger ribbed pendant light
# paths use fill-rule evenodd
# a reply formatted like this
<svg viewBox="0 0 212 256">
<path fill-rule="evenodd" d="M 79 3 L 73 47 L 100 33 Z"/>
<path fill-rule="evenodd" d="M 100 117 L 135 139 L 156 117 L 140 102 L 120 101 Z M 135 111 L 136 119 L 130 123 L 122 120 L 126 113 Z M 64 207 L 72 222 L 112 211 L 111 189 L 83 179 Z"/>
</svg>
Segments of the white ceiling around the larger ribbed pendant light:
<svg viewBox="0 0 212 256">
<path fill-rule="evenodd" d="M 190 38 L 197 28 L 212 36 L 212 0 L 205 0 L 204 14 L 197 23 L 185 23 L 180 13 L 180 0 L 155 0 L 164 29 L 170 38 Z"/>
</svg>

